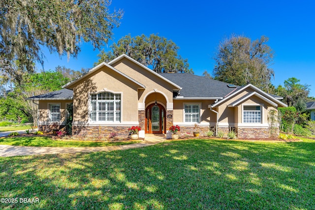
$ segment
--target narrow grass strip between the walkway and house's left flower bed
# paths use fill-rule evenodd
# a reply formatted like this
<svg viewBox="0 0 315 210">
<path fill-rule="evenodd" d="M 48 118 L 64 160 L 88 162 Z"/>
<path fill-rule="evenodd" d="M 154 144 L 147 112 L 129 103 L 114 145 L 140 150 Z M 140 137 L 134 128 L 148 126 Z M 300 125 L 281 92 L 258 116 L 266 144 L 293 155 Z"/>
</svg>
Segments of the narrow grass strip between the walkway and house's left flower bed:
<svg viewBox="0 0 315 210">
<path fill-rule="evenodd" d="M 53 147 L 84 147 L 84 146 L 116 146 L 140 142 L 136 141 L 119 141 L 119 142 L 102 142 L 86 140 L 52 140 L 50 137 L 3 137 L 0 138 L 0 144 L 14 146 L 53 146 Z"/>
</svg>

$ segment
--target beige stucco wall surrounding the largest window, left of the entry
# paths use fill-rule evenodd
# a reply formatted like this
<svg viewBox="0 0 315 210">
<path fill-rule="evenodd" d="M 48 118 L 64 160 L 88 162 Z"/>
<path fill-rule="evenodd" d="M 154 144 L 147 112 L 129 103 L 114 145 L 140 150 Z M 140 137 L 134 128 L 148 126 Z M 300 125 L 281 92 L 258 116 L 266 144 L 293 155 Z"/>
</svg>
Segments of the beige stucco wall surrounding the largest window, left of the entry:
<svg viewBox="0 0 315 210">
<path fill-rule="evenodd" d="M 88 122 L 89 95 L 104 91 L 122 94 L 122 121 L 138 121 L 137 88 L 137 84 L 108 67 L 96 70 L 73 89 L 73 121 Z"/>
</svg>

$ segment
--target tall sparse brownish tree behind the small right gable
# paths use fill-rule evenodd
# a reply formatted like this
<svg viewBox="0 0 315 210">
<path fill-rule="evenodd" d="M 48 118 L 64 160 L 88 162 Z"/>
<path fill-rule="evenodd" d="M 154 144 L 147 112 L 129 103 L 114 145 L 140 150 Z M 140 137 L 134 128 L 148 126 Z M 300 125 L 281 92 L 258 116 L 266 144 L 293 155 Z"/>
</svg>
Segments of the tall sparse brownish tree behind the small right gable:
<svg viewBox="0 0 315 210">
<path fill-rule="evenodd" d="M 274 70 L 269 66 L 273 51 L 266 44 L 268 37 L 251 40 L 242 35 L 232 35 L 221 41 L 214 57 L 215 79 L 235 85 L 252 84 L 269 92 Z"/>
</svg>

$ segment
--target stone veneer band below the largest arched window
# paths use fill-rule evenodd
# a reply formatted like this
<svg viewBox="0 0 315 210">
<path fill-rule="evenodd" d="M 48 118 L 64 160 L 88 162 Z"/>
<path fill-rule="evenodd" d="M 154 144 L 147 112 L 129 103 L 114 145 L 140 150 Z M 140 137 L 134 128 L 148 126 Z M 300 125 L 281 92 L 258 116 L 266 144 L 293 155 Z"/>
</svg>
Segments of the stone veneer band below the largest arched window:
<svg viewBox="0 0 315 210">
<path fill-rule="evenodd" d="M 116 133 L 118 138 L 127 138 L 131 126 L 72 126 L 72 135 L 108 138 Z"/>
</svg>

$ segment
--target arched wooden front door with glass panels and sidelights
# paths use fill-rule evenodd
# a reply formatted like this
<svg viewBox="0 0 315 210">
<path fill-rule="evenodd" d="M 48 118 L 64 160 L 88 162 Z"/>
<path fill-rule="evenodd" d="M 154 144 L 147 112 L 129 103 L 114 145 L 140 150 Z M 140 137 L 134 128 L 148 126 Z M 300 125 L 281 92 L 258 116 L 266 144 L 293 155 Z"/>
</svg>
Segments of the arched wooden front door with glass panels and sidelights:
<svg viewBox="0 0 315 210">
<path fill-rule="evenodd" d="M 160 104 L 151 104 L 146 108 L 146 134 L 165 134 L 166 133 L 166 111 Z"/>
</svg>

